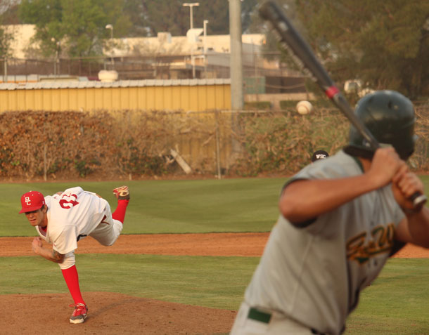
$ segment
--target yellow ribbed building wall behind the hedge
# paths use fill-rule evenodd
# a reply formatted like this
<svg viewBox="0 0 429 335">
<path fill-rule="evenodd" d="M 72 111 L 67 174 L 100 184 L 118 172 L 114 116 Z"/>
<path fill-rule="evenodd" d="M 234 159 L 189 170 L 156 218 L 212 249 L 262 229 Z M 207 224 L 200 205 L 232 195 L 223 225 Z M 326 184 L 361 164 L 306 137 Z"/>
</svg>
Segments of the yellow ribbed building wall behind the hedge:
<svg viewBox="0 0 429 335">
<path fill-rule="evenodd" d="M 0 112 L 230 109 L 229 84 L 0 90 Z"/>
</svg>

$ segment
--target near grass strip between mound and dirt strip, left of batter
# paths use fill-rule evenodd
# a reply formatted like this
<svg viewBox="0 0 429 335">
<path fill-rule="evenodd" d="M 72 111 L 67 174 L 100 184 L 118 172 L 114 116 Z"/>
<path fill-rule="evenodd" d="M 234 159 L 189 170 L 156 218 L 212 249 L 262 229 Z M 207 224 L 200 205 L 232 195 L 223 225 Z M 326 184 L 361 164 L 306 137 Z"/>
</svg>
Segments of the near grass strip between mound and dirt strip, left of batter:
<svg viewBox="0 0 429 335">
<path fill-rule="evenodd" d="M 236 310 L 257 257 L 79 254 L 82 291 L 106 291 Z M 67 293 L 58 265 L 37 256 L 0 258 L 1 294 Z M 49 285 L 46 285 L 49 283 Z"/>
</svg>

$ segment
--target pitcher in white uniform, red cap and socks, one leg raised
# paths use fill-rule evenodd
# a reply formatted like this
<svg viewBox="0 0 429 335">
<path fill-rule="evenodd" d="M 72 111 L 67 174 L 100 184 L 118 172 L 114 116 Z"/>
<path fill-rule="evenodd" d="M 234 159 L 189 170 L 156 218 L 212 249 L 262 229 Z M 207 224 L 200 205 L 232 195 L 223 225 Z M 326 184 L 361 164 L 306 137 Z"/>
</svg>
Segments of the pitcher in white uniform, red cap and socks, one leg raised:
<svg viewBox="0 0 429 335">
<path fill-rule="evenodd" d="M 70 323 L 84 322 L 88 313 L 75 265 L 77 242 L 91 236 L 100 244 L 110 246 L 122 231 L 129 203 L 128 187 L 115 188 L 113 194 L 117 198 L 117 208 L 113 214 L 105 199 L 79 186 L 52 196 L 44 197 L 41 192 L 30 191 L 21 197 L 20 214 L 25 214 L 40 236 L 33 239 L 34 253 L 60 265 L 72 295 L 74 304 L 71 306 L 75 309 Z M 43 240 L 52 244 L 52 249 L 44 247 Z"/>
</svg>

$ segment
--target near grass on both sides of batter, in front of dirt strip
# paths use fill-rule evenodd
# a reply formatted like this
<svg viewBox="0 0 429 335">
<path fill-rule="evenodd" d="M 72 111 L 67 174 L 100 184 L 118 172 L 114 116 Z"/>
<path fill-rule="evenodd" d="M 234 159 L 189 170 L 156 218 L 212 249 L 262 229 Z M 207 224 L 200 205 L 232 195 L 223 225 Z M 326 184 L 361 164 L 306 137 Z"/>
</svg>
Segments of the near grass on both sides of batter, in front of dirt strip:
<svg viewBox="0 0 429 335">
<path fill-rule="evenodd" d="M 238 309 L 258 261 L 256 257 L 77 255 L 84 292 L 112 291 L 228 310 Z M 0 264 L 6 269 L 0 277 L 0 295 L 68 292 L 58 265 L 37 256 L 0 258 Z M 429 334 L 428 279 L 429 259 L 390 259 L 380 277 L 362 292 L 346 334 Z"/>
</svg>

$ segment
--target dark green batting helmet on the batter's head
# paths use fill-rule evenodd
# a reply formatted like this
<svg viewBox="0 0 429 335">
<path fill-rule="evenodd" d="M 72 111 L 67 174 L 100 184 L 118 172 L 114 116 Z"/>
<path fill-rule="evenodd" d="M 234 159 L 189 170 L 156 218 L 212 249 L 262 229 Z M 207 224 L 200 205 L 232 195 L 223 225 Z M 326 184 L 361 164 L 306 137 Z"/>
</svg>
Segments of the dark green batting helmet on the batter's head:
<svg viewBox="0 0 429 335">
<path fill-rule="evenodd" d="M 395 147 L 401 159 L 414 152 L 414 107 L 409 98 L 395 91 L 376 91 L 358 101 L 354 114 L 371 131 L 380 144 Z M 369 143 L 350 126 L 349 145 L 352 149 L 368 150 Z M 347 152 L 347 150 L 346 150 Z"/>
</svg>

